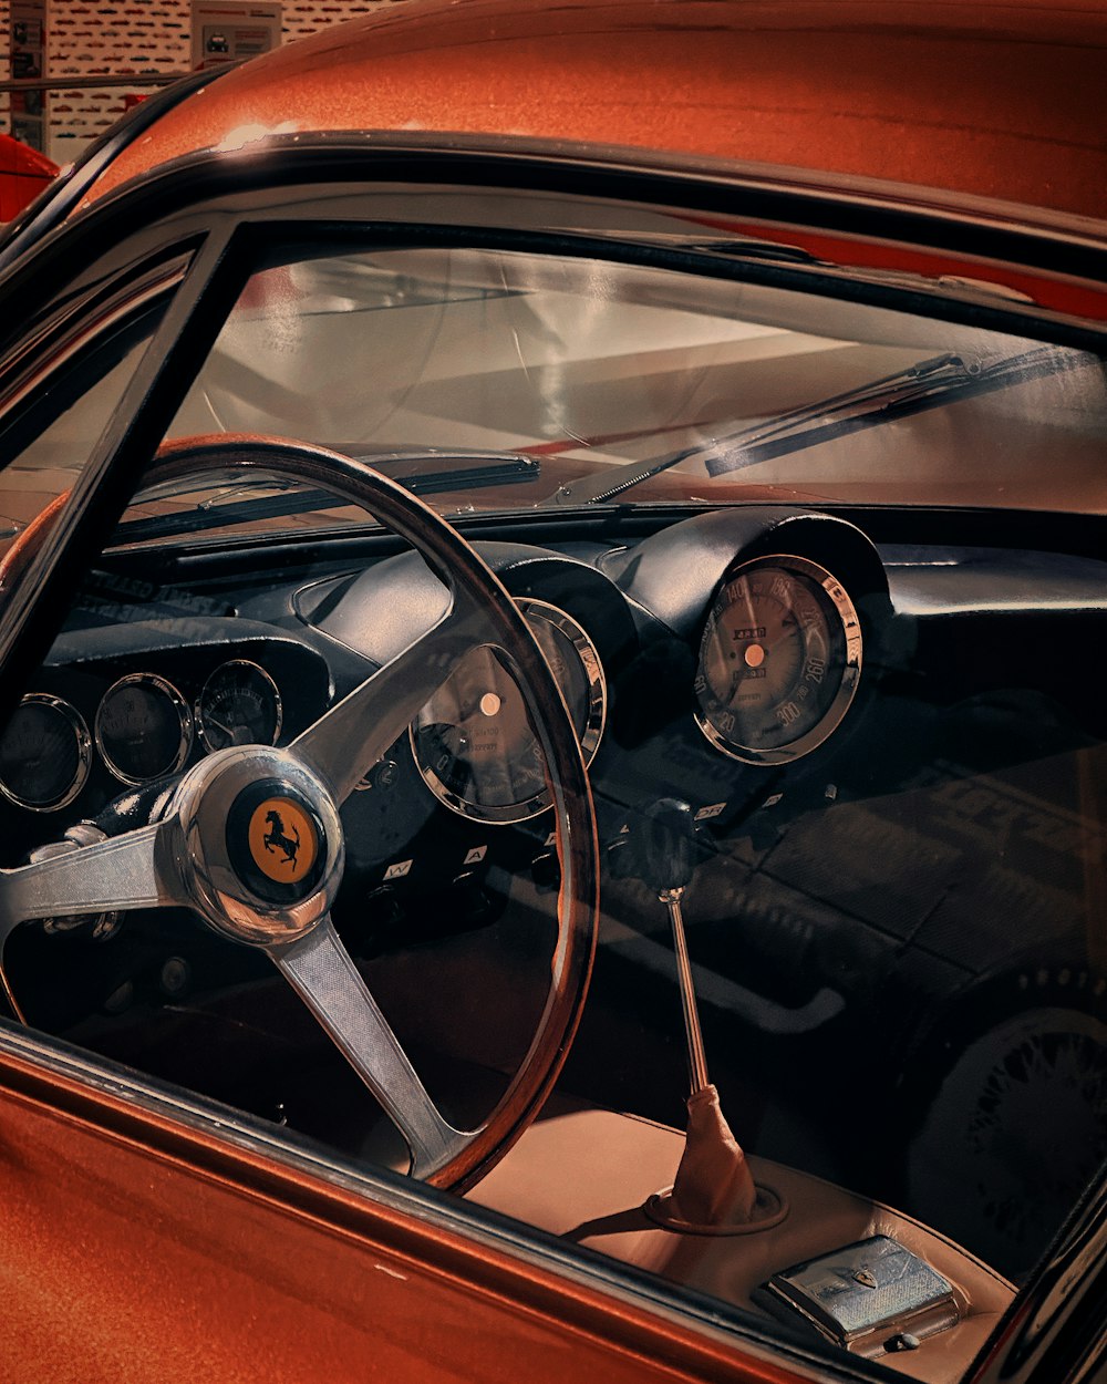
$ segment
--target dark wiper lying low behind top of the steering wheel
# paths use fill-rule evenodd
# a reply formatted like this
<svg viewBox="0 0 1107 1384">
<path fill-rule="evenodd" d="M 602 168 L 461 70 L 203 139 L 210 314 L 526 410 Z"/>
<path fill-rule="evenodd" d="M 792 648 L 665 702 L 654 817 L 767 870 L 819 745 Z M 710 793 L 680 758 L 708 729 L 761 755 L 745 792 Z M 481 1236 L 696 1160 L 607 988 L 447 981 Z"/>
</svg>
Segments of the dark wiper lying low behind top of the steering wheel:
<svg viewBox="0 0 1107 1384">
<path fill-rule="evenodd" d="M 396 480 L 414 495 L 448 494 L 454 490 L 475 490 L 482 486 L 508 486 L 537 480 L 541 462 L 537 457 L 520 457 L 512 451 L 387 451 L 354 453 L 357 461 L 365 461 L 382 475 Z M 433 462 L 440 469 L 419 472 L 417 468 Z M 443 462 L 458 462 L 452 468 Z M 253 482 L 255 489 L 273 491 L 280 480 Z M 329 490 L 304 489 L 288 490 L 281 486 L 275 494 L 250 495 L 249 486 L 237 483 L 232 494 L 246 493 L 244 500 L 228 500 L 224 504 L 203 501 L 192 509 L 181 509 L 167 515 L 152 515 L 145 519 L 130 519 L 115 530 L 112 545 L 152 543 L 158 538 L 172 538 L 177 534 L 201 533 L 210 529 L 228 529 L 241 523 L 259 523 L 266 519 L 282 519 L 292 515 L 311 513 L 324 509 L 345 509 L 350 501 Z M 180 489 L 174 494 L 180 494 Z"/>
</svg>

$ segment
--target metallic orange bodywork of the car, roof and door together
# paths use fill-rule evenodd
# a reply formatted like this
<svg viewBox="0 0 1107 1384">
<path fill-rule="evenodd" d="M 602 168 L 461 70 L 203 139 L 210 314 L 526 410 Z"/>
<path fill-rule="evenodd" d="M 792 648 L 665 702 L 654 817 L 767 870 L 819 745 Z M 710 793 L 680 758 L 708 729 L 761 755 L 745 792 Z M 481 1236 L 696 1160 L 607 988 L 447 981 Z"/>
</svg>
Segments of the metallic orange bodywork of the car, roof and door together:
<svg viewBox="0 0 1107 1384">
<path fill-rule="evenodd" d="M 108 198 L 202 151 L 270 134 L 385 131 L 811 194 L 803 228 L 725 223 L 837 266 L 978 281 L 1057 318 L 1107 321 L 1079 267 L 1020 262 L 1016 227 L 1107 246 L 1107 10 L 887 0 L 462 0 L 397 6 L 221 75 L 169 107 L 82 191 Z M 37 174 L 46 180 L 48 170 Z M 861 237 L 819 208 L 923 210 L 928 245 Z M 0 216 L 11 215 L 0 208 Z M 987 228 L 1006 259 L 960 248 Z M 706 223 L 707 224 L 707 223 Z M 710 223 L 715 228 L 718 221 Z M 1075 262 L 1074 262 L 1075 264 Z M 84 1071 L 0 1060 L 6 1378 L 746 1380 L 789 1367 L 664 1291 L 632 1301 L 509 1228 L 440 1218 L 372 1181 L 205 1132 Z M 389 1200 L 392 1199 L 392 1200 Z M 12 1308 L 12 1304 L 18 1306 Z M 829 1377 L 829 1376 L 827 1376 Z"/>
</svg>

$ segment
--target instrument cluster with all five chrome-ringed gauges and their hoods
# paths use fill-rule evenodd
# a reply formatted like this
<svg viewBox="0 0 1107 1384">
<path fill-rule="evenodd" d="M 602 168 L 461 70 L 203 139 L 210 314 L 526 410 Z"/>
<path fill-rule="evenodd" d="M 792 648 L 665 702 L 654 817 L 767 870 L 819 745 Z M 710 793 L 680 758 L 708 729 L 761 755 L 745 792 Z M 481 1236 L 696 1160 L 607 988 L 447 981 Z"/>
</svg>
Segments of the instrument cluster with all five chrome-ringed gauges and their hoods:
<svg viewBox="0 0 1107 1384">
<path fill-rule="evenodd" d="M 555 551 L 538 561 L 522 545 L 493 552 L 551 664 L 585 764 L 612 738 L 613 718 L 614 743 L 592 768 L 598 793 L 616 803 L 638 800 L 639 776 L 656 779 L 666 746 L 674 792 L 724 801 L 728 760 L 771 767 L 809 754 L 845 718 L 861 682 L 855 602 L 873 580 L 857 530 L 808 523 L 774 543 L 726 515 L 678 527 L 697 537 L 702 562 L 688 562 L 671 530 L 627 549 L 625 569 L 617 554 L 592 565 Z M 125 626 L 79 631 L 0 739 L 0 796 L 32 814 L 71 805 L 94 814 L 203 754 L 288 742 L 336 685 L 347 689 L 365 662 L 387 663 L 410 642 L 436 609 L 421 580 L 411 562 L 390 558 L 304 588 L 320 602 L 298 609 L 307 639 L 260 608 L 239 613 L 230 639 L 213 627 L 198 644 L 184 632 L 149 642 Z M 675 645 L 679 659 L 666 652 Z M 429 793 L 470 823 L 522 823 L 549 807 L 536 728 L 511 667 L 488 645 L 464 655 L 404 739 L 415 797 Z"/>
</svg>

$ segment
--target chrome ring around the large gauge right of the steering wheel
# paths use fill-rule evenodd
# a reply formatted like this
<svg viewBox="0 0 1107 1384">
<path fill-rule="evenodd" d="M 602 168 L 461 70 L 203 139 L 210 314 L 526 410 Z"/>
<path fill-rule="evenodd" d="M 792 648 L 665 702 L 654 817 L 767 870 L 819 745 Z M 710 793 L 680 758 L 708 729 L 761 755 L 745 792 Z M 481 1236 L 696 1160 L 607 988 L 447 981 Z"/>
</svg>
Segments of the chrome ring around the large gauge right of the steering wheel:
<svg viewBox="0 0 1107 1384">
<path fill-rule="evenodd" d="M 743 574 L 761 567 L 783 567 L 787 572 L 805 577 L 826 597 L 830 609 L 833 609 L 841 624 L 841 634 L 844 638 L 844 657 L 837 691 L 823 714 L 819 717 L 818 722 L 812 725 L 811 729 L 798 735 L 794 740 L 787 740 L 769 749 L 756 749 L 753 746 L 743 745 L 739 740 L 731 739 L 711 721 L 702 702 L 697 704 L 693 714 L 696 725 L 699 725 L 700 731 L 703 731 L 710 743 L 720 750 L 720 753 L 729 756 L 732 760 L 739 760 L 743 764 L 790 764 L 793 760 L 803 758 L 804 754 L 809 754 L 812 750 L 818 749 L 839 728 L 839 725 L 841 725 L 845 713 L 850 710 L 850 706 L 857 696 L 857 691 L 861 684 L 863 642 L 861 620 L 852 599 L 845 591 L 845 587 L 837 577 L 833 576 L 833 573 L 827 572 L 826 567 L 821 566 L 818 562 L 812 562 L 809 558 L 800 558 L 796 554 L 768 554 L 765 556 L 753 558 L 749 562 L 739 563 L 728 572 L 725 580 L 720 585 L 715 601 L 711 605 L 711 612 L 703 626 L 696 664 L 695 693 L 697 702 L 704 682 L 704 648 L 715 623 L 718 595 L 732 583 L 738 581 Z"/>
</svg>

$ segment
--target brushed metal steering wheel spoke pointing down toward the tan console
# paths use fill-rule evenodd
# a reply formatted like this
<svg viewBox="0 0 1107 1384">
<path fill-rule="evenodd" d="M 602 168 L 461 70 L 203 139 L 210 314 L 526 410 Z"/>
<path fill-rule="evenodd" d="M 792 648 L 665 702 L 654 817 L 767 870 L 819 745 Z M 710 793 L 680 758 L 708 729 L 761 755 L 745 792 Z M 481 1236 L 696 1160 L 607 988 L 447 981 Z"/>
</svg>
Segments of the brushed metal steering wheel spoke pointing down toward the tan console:
<svg viewBox="0 0 1107 1384">
<path fill-rule="evenodd" d="M 331 918 L 299 941 L 266 949 L 407 1140 L 411 1172 L 429 1176 L 443 1167 L 472 1132 L 439 1113 Z"/>
</svg>

